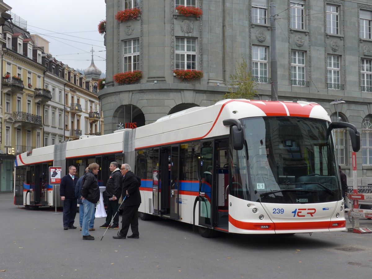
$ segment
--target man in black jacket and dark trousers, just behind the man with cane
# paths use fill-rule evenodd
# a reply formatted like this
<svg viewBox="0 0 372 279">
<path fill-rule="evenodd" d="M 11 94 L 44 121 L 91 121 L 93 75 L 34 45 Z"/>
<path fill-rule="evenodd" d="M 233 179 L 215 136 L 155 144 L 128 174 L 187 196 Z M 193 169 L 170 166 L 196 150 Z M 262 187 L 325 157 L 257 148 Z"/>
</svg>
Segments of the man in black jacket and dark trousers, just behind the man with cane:
<svg viewBox="0 0 372 279">
<path fill-rule="evenodd" d="M 109 169 L 112 172 L 109 180 L 106 183 L 106 196 L 111 198 L 112 200 L 107 201 L 107 217 L 106 222 L 100 228 L 107 228 L 111 224 L 111 219 L 113 216 L 113 224 L 109 227 L 109 229 L 118 229 L 119 228 L 119 214 L 115 213 L 118 211 L 119 205 L 119 198 L 121 196 L 121 182 L 122 182 L 122 175 L 120 173 L 120 169 L 118 167 L 118 163 L 111 162 Z"/>
</svg>

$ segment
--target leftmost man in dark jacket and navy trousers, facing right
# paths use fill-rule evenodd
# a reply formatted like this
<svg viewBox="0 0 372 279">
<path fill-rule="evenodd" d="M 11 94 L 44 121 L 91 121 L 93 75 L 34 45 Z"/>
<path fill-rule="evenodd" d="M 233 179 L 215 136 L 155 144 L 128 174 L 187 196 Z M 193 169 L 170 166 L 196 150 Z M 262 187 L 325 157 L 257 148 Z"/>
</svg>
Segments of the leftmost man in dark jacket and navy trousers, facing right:
<svg viewBox="0 0 372 279">
<path fill-rule="evenodd" d="M 62 177 L 60 184 L 60 196 L 63 201 L 63 229 L 76 229 L 74 226 L 77 200 L 75 197 L 76 167 L 68 167 L 68 174 Z"/>
</svg>

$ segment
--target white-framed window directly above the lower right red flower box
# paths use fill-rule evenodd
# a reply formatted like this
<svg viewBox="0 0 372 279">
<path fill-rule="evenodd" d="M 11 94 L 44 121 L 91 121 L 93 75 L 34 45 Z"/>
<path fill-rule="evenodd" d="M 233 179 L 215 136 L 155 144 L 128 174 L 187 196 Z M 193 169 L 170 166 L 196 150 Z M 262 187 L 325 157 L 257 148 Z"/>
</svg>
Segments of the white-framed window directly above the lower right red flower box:
<svg viewBox="0 0 372 279">
<path fill-rule="evenodd" d="M 174 68 L 176 70 L 198 70 L 197 39 L 176 37 L 174 46 Z"/>
</svg>

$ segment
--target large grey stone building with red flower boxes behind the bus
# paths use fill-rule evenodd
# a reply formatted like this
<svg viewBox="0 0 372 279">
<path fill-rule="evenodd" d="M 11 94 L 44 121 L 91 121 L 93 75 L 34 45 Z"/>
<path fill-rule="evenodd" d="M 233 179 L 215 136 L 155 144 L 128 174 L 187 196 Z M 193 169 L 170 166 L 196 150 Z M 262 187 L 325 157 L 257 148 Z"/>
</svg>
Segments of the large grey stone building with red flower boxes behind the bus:
<svg viewBox="0 0 372 279">
<path fill-rule="evenodd" d="M 121 123 L 141 126 L 179 110 L 214 104 L 243 57 L 258 82 L 257 99 L 271 99 L 277 74 L 279 100 L 317 102 L 333 121 L 355 124 L 362 138 L 358 176 L 372 176 L 371 1 L 269 2 L 107 1 L 106 88 L 99 93 L 105 133 Z M 185 16 L 190 7 L 199 9 Z M 275 19 L 273 38 L 270 16 Z M 277 71 L 271 66 L 273 54 Z M 175 70 L 198 70 L 203 77 L 180 79 Z M 134 83 L 113 79 L 132 71 L 142 72 Z M 336 137 L 339 162 L 350 177 L 347 131 L 337 131 Z"/>
</svg>

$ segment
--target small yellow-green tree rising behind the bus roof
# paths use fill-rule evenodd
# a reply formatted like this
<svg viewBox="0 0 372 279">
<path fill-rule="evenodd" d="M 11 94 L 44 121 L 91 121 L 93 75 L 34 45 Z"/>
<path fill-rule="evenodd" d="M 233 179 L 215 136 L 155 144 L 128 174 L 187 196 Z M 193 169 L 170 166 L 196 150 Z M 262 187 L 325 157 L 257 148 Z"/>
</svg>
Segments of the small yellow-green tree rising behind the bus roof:
<svg viewBox="0 0 372 279">
<path fill-rule="evenodd" d="M 247 61 L 242 57 L 243 62 L 238 62 L 234 66 L 235 74 L 230 75 L 230 83 L 227 84 L 227 91 L 224 94 L 225 99 L 253 99 L 258 92 L 254 89 L 257 82 L 253 81 L 252 74 L 248 71 Z"/>
</svg>

